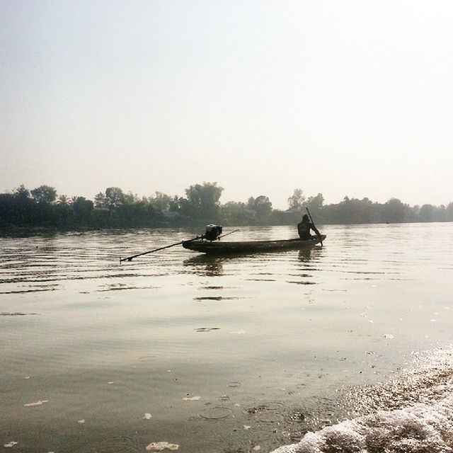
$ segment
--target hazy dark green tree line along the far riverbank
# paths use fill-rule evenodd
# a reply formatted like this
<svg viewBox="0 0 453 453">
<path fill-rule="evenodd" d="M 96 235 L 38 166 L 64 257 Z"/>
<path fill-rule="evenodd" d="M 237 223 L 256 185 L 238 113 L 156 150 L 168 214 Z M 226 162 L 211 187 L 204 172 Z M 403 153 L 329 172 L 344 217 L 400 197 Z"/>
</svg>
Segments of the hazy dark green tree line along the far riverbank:
<svg viewBox="0 0 453 453">
<path fill-rule="evenodd" d="M 156 226 L 199 226 L 207 223 L 228 225 L 297 224 L 308 207 L 319 224 L 368 224 L 402 222 L 453 222 L 453 202 L 449 205 L 410 206 L 397 198 L 385 203 L 368 198 L 344 197 L 325 205 L 323 195 L 305 197 L 295 189 L 288 197 L 288 209 L 273 209 L 265 195 L 247 202 L 226 202 L 217 183 L 190 185 L 185 196 L 156 192 L 149 197 L 125 193 L 117 187 L 99 192 L 93 200 L 57 195 L 49 185 L 28 190 L 23 185 L 0 194 L 0 229 L 104 229 Z"/>
</svg>

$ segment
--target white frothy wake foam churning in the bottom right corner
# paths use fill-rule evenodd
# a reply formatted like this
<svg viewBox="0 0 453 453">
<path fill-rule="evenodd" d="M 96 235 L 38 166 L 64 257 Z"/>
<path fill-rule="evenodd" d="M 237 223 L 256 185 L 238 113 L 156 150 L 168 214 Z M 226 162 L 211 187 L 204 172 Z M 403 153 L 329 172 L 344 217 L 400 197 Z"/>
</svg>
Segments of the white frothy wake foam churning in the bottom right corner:
<svg viewBox="0 0 453 453">
<path fill-rule="evenodd" d="M 353 389 L 345 408 L 363 415 L 308 432 L 274 453 L 453 452 L 453 353 L 416 357 L 384 384 Z"/>
</svg>

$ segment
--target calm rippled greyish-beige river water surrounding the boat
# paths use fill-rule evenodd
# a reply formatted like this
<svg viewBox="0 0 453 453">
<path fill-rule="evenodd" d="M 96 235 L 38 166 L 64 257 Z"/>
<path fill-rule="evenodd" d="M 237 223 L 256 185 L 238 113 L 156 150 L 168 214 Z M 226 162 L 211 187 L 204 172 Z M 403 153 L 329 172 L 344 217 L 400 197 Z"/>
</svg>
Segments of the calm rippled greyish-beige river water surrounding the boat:
<svg viewBox="0 0 453 453">
<path fill-rule="evenodd" d="M 122 264 L 199 231 L 0 239 L 0 445 L 450 451 L 453 224 L 322 230 L 311 251 Z"/>
</svg>

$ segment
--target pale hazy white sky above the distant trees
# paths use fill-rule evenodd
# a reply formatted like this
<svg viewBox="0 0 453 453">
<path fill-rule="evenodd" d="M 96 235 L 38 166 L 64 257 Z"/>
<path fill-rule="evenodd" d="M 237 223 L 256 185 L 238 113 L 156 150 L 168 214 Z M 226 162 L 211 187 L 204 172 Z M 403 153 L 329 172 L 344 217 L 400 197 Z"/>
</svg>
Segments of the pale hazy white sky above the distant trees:
<svg viewBox="0 0 453 453">
<path fill-rule="evenodd" d="M 453 201 L 452 1 L 0 3 L 1 192 Z"/>
</svg>

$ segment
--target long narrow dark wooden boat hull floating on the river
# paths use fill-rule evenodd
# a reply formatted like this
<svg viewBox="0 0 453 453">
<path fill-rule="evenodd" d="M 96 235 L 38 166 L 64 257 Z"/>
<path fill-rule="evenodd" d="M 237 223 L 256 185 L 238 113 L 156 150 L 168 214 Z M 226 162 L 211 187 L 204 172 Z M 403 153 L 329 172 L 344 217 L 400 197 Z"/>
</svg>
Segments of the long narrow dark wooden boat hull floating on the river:
<svg viewBox="0 0 453 453">
<path fill-rule="evenodd" d="M 259 253 L 268 251 L 289 250 L 292 248 L 308 248 L 326 239 L 325 234 L 312 236 L 311 239 L 285 239 L 282 241 L 242 241 L 242 242 L 222 242 L 205 241 L 196 239 L 195 241 L 184 241 L 183 247 L 201 253 L 212 255 L 226 255 L 229 253 Z"/>
</svg>

